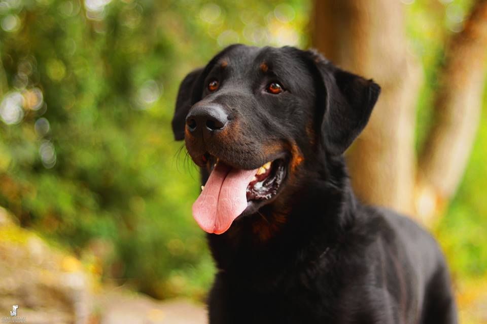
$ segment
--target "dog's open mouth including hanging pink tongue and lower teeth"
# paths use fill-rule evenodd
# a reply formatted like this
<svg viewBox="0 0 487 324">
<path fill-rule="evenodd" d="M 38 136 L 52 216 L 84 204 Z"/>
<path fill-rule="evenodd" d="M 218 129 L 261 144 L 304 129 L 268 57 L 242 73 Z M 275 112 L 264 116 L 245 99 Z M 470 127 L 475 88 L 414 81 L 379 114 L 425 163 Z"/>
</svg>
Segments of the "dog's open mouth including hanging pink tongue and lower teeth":
<svg viewBox="0 0 487 324">
<path fill-rule="evenodd" d="M 284 158 L 253 170 L 234 168 L 206 154 L 210 177 L 193 204 L 193 217 L 208 233 L 225 232 L 238 216 L 255 213 L 279 193 L 286 178 Z"/>
</svg>

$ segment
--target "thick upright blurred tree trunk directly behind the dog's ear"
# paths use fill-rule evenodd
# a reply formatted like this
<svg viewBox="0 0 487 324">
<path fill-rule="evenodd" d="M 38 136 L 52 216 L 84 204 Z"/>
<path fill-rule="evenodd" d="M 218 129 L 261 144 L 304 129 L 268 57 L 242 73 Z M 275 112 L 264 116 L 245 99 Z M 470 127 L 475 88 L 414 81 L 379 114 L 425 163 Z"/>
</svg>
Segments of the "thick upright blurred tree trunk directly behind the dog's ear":
<svg viewBox="0 0 487 324">
<path fill-rule="evenodd" d="M 423 75 L 408 52 L 402 4 L 317 0 L 314 13 L 313 45 L 382 87 L 368 126 L 347 152 L 354 189 L 365 203 L 412 214 L 414 108 Z"/>
</svg>

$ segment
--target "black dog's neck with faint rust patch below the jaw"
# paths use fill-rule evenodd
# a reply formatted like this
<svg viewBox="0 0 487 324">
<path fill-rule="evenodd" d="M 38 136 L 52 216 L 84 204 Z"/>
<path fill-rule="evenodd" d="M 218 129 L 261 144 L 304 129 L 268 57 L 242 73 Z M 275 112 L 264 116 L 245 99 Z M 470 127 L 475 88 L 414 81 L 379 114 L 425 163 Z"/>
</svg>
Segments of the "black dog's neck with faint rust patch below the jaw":
<svg viewBox="0 0 487 324">
<path fill-rule="evenodd" d="M 327 163 L 326 168 L 317 167 L 296 179 L 296 186 L 283 192 L 281 199 L 237 219 L 227 232 L 208 234 L 217 267 L 307 262 L 291 255 L 318 258 L 339 244 L 354 224 L 359 203 L 350 189 L 343 158 L 328 158 Z"/>
</svg>

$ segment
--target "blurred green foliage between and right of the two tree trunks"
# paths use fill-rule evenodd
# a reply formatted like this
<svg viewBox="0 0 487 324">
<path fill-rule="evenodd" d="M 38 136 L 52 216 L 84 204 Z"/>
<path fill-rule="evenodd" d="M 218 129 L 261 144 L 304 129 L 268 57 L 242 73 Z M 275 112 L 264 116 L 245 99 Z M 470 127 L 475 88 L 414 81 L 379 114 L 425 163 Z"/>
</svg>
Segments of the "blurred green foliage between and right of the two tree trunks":
<svg viewBox="0 0 487 324">
<path fill-rule="evenodd" d="M 449 37 L 462 29 L 473 1 L 432 1 L 406 6 L 406 27 L 413 53 L 423 65 L 424 84 L 418 101 L 416 148 L 422 148 L 434 121 L 434 93 L 438 70 L 444 63 L 444 47 Z M 433 231 L 448 258 L 454 276 L 480 277 L 487 274 L 487 85 L 483 113 L 472 154 L 456 196 Z"/>
</svg>

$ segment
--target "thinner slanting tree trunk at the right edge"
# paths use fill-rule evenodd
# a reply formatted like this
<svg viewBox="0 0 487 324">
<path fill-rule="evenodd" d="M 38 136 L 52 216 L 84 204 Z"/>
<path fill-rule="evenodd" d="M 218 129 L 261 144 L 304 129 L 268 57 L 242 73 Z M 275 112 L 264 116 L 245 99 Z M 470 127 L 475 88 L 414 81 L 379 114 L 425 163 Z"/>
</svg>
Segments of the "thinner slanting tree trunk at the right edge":
<svg viewBox="0 0 487 324">
<path fill-rule="evenodd" d="M 487 60 L 487 1 L 477 1 L 446 49 L 438 77 L 435 123 L 419 160 L 418 213 L 426 221 L 441 213 L 465 171 L 479 125 Z"/>
</svg>

